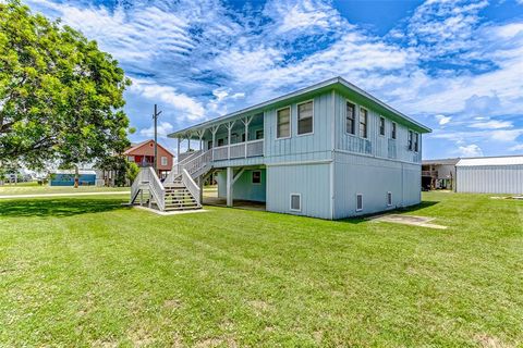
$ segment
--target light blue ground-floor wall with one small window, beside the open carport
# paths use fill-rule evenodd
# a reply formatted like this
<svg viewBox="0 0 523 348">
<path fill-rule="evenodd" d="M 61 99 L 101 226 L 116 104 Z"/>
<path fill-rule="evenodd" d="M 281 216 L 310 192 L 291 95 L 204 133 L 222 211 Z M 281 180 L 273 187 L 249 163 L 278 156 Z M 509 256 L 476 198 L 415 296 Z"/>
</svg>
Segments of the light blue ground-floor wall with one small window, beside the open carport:
<svg viewBox="0 0 523 348">
<path fill-rule="evenodd" d="M 331 219 L 329 163 L 271 165 L 267 183 L 268 211 Z M 291 211 L 291 194 L 302 196 L 302 211 Z"/>
</svg>

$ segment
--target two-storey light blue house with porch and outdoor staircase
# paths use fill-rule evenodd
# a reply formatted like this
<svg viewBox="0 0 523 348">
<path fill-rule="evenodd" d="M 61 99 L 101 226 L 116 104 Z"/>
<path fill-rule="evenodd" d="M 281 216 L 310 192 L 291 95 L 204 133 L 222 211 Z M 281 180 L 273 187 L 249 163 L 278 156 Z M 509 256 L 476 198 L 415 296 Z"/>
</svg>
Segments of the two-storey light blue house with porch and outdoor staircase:
<svg viewBox="0 0 523 348">
<path fill-rule="evenodd" d="M 190 207 L 200 207 L 202 183 L 216 173 L 228 206 L 252 200 L 267 211 L 331 220 L 417 204 L 421 135 L 429 132 L 332 78 L 169 135 L 179 152 L 181 141 L 200 150 L 174 165 L 151 201 L 184 209 L 175 199 L 182 189 Z"/>
</svg>

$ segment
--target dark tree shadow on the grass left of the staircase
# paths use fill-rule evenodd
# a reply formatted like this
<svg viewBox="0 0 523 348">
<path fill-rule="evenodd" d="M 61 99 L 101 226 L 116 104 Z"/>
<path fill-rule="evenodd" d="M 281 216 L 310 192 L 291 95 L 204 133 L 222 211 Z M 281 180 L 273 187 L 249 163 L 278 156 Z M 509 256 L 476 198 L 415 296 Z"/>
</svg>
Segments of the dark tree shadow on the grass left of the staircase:
<svg viewBox="0 0 523 348">
<path fill-rule="evenodd" d="M 121 199 L 5 199 L 0 200 L 0 217 L 72 216 L 124 209 Z"/>
</svg>

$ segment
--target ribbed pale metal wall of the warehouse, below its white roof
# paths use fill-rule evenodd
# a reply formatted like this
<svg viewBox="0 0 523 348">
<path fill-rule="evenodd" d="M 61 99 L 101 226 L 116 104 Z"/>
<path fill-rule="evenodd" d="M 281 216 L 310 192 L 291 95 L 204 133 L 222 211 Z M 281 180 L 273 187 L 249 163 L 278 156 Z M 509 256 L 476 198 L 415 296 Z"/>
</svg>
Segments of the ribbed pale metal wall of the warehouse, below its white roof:
<svg viewBox="0 0 523 348">
<path fill-rule="evenodd" d="M 458 192 L 523 194 L 523 165 L 457 166 Z"/>
</svg>

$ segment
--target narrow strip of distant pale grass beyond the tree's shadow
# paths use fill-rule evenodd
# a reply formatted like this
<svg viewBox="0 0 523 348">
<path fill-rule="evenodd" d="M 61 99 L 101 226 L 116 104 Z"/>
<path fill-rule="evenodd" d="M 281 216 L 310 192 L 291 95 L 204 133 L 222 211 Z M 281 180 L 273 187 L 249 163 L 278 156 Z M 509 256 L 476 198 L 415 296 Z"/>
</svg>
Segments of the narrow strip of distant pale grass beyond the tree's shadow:
<svg viewBox="0 0 523 348">
<path fill-rule="evenodd" d="M 97 186 L 80 186 L 74 188 L 71 186 L 49 186 L 38 185 L 37 183 L 20 183 L 0 185 L 0 196 L 16 195 L 47 195 L 47 194 L 78 194 L 78 192 L 104 192 L 104 191 L 129 191 L 129 187 L 97 187 Z"/>
</svg>

